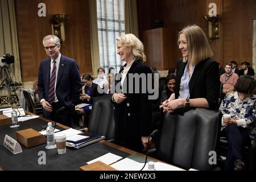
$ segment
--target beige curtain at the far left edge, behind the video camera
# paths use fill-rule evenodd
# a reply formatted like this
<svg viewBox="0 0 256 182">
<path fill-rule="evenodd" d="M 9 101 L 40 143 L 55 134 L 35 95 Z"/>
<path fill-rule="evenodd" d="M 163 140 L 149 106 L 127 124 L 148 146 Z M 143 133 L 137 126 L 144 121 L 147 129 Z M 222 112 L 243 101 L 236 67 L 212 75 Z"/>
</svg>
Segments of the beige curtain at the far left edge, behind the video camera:
<svg viewBox="0 0 256 182">
<path fill-rule="evenodd" d="M 14 55 L 14 64 L 7 65 L 13 82 L 22 82 L 14 0 L 0 2 L 0 57 Z"/>
</svg>

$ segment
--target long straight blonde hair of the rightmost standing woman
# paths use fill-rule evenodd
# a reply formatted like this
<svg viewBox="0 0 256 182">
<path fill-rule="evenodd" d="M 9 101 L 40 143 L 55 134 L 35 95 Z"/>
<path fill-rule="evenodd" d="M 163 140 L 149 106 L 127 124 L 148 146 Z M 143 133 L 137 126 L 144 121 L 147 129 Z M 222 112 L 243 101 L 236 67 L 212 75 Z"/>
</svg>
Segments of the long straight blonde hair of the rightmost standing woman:
<svg viewBox="0 0 256 182">
<path fill-rule="evenodd" d="M 192 65 L 198 64 L 200 61 L 213 56 L 212 48 L 204 31 L 197 25 L 187 26 L 179 32 L 178 46 L 180 34 L 184 34 L 187 39 L 188 58 L 183 61 L 189 60 Z"/>
</svg>

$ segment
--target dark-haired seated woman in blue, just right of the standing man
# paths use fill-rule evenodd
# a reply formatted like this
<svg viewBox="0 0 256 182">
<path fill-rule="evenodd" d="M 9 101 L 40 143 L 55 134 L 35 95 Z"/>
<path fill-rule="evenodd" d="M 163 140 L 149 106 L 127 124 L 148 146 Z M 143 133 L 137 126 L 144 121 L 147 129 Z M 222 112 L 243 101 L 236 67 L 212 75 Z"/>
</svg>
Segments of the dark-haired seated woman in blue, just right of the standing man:
<svg viewBox="0 0 256 182">
<path fill-rule="evenodd" d="M 89 122 L 90 110 L 92 109 L 93 98 L 102 96 L 102 94 L 98 92 L 98 89 L 100 88 L 98 88 L 98 85 L 94 84 L 92 80 L 93 77 L 89 74 L 82 76 L 82 83 L 85 85 L 82 86 L 82 94 L 80 96 L 80 100 L 82 103 L 88 105 L 82 108 L 76 107 L 76 113 L 85 116 L 85 125 L 87 126 Z"/>
</svg>

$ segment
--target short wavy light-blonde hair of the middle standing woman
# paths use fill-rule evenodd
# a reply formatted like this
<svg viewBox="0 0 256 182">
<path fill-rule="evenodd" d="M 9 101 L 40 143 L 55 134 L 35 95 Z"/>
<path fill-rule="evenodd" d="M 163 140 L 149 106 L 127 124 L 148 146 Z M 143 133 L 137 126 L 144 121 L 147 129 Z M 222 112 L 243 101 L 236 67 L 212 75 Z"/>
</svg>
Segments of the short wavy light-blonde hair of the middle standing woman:
<svg viewBox="0 0 256 182">
<path fill-rule="evenodd" d="M 123 36 L 119 36 L 117 41 L 121 41 L 123 46 L 131 47 L 131 52 L 133 55 L 137 57 L 142 63 L 146 61 L 146 55 L 144 54 L 144 46 L 135 35 L 133 34 L 125 34 Z"/>
</svg>

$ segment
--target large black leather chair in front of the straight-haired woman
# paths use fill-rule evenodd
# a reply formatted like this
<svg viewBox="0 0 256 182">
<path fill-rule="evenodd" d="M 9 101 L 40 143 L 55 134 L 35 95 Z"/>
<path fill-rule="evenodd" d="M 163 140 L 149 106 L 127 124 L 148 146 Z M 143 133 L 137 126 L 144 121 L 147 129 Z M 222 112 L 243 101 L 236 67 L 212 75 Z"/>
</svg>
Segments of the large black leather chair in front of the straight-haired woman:
<svg viewBox="0 0 256 182">
<path fill-rule="evenodd" d="M 209 152 L 216 150 L 219 123 L 218 111 L 203 108 L 164 114 L 156 158 L 184 169 L 212 169 Z"/>
</svg>

